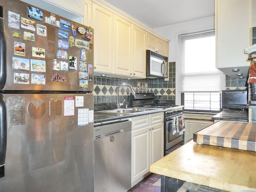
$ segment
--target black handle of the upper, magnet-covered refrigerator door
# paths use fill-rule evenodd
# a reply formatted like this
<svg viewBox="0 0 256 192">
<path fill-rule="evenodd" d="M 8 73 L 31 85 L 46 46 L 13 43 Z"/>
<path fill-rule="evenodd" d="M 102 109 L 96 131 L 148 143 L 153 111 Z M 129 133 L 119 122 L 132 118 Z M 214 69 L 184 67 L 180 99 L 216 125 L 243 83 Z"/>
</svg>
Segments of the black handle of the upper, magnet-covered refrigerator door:
<svg viewBox="0 0 256 192">
<path fill-rule="evenodd" d="M 0 6 L 0 90 L 6 82 L 6 36 L 4 28 L 4 9 Z"/>
</svg>

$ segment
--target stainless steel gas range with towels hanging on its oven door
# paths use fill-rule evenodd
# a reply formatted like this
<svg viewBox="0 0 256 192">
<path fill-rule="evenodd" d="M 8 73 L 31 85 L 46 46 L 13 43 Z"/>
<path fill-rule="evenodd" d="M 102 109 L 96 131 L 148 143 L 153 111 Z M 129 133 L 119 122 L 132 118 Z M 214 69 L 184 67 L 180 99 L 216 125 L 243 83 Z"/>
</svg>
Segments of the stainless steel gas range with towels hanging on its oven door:
<svg viewBox="0 0 256 192">
<path fill-rule="evenodd" d="M 131 96 L 132 105 L 147 108 L 162 108 L 164 112 L 164 156 L 184 144 L 183 106 L 154 103 L 154 93 L 136 93 Z"/>
</svg>

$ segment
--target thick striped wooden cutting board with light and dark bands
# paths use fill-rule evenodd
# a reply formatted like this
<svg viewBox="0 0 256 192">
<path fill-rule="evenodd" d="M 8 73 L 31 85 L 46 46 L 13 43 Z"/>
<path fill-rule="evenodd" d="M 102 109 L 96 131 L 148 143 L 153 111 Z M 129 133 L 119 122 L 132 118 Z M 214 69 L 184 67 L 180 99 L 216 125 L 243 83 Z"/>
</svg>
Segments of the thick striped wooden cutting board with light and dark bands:
<svg viewBox="0 0 256 192">
<path fill-rule="evenodd" d="M 256 152 L 256 124 L 218 121 L 193 135 L 194 142 Z"/>
</svg>

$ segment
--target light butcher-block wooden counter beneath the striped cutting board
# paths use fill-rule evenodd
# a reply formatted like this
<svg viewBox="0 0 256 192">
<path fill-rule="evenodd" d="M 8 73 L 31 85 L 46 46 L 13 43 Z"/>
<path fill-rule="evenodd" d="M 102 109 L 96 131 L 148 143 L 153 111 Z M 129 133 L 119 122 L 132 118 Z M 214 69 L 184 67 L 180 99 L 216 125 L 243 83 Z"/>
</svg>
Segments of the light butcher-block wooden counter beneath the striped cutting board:
<svg viewBox="0 0 256 192">
<path fill-rule="evenodd" d="M 230 192 L 255 192 L 256 152 L 190 141 L 154 162 L 150 172 Z"/>
</svg>

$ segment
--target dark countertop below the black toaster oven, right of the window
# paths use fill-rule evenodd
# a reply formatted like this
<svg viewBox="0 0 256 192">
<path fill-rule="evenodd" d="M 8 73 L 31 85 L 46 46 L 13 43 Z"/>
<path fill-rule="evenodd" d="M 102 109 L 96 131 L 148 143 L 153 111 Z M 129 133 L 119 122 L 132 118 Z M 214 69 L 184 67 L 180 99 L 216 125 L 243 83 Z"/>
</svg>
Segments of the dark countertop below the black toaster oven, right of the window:
<svg viewBox="0 0 256 192">
<path fill-rule="evenodd" d="M 226 109 L 213 116 L 212 120 L 248 122 L 248 110 Z"/>
</svg>

